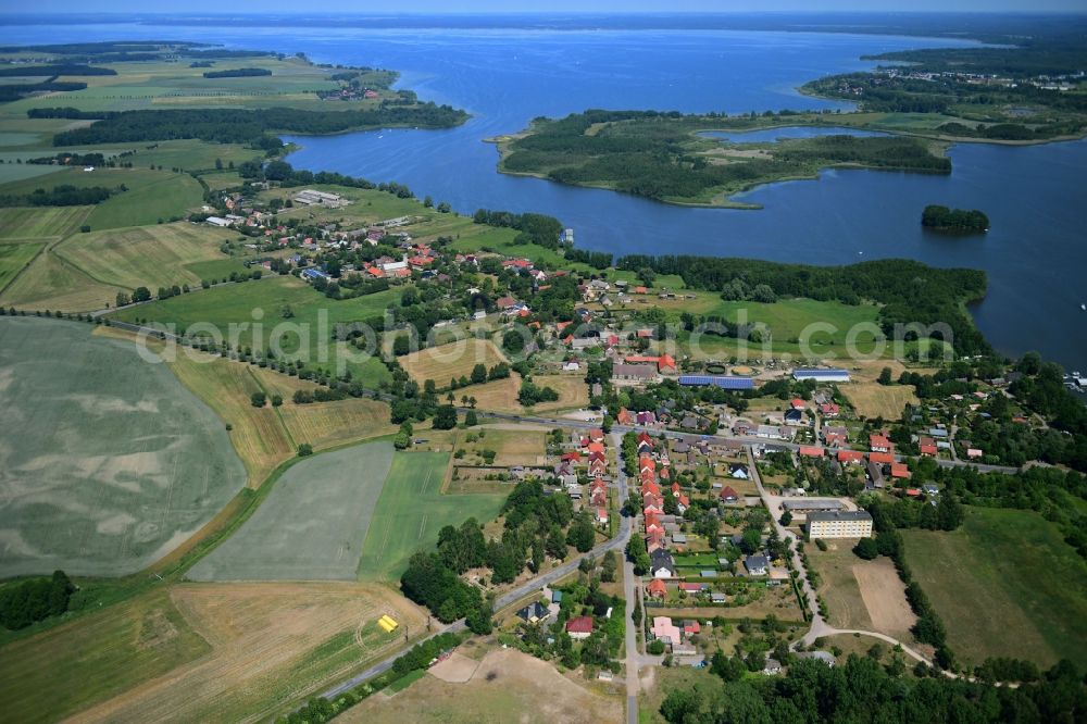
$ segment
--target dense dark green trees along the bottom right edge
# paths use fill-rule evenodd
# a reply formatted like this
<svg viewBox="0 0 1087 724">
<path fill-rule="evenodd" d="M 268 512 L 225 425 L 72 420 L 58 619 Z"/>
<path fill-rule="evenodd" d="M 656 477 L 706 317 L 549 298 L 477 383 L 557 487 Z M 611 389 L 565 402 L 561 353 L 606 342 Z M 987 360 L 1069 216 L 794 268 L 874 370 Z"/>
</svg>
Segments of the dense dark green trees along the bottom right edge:
<svg viewBox="0 0 1087 724">
<path fill-rule="evenodd" d="M 1017 688 L 944 676 L 914 681 L 902 669 L 887 671 L 871 658 L 850 656 L 829 667 L 797 661 L 782 677 L 735 675 L 727 662 L 712 671 L 726 681 L 676 688 L 661 704 L 673 724 L 805 724 L 808 722 L 1019 722 L 1072 724 L 1087 717 L 1087 687 L 1062 661 L 1041 681 Z M 890 669 L 890 666 L 888 666 Z M 924 675 L 924 667 L 919 669 Z"/>
</svg>

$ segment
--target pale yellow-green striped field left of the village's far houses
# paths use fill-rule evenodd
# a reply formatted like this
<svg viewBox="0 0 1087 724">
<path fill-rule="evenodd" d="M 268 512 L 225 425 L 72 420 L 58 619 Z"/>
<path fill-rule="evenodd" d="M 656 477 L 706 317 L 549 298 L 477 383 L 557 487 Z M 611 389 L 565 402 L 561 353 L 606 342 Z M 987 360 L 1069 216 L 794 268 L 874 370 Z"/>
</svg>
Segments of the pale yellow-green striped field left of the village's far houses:
<svg viewBox="0 0 1087 724">
<path fill-rule="evenodd" d="M 199 285 L 204 277 L 190 265 L 227 262 L 234 270 L 243 269 L 220 251 L 234 237 L 230 232 L 207 224 L 176 222 L 76 234 L 53 252 L 103 284 L 154 290 L 175 284 Z M 201 266 L 200 271 L 205 269 Z"/>
</svg>

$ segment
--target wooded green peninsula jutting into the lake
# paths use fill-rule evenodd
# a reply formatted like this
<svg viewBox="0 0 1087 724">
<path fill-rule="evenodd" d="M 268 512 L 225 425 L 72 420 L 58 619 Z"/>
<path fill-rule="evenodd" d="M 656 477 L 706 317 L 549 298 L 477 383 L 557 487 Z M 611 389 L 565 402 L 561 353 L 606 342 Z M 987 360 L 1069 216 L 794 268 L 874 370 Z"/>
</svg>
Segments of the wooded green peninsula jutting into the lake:
<svg viewBox="0 0 1087 724">
<path fill-rule="evenodd" d="M 501 168 L 564 184 L 598 185 L 655 200 L 708 203 L 787 177 L 811 176 L 833 165 L 950 173 L 951 163 L 912 138 L 829 136 L 766 143 L 758 157 L 722 154 L 722 143 L 698 130 L 720 115 L 655 111 L 575 113 L 537 118 L 530 132 L 508 141 Z"/>
</svg>

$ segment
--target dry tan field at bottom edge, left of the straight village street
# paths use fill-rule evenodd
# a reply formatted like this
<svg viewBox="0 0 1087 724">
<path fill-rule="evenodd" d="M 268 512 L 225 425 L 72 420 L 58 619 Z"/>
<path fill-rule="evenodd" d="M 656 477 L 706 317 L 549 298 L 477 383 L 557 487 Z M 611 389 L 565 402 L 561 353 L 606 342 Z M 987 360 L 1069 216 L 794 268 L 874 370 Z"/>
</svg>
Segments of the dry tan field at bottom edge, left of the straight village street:
<svg viewBox="0 0 1087 724">
<path fill-rule="evenodd" d="M 393 696 L 376 694 L 338 720 L 345 724 L 620 722 L 623 700 L 594 694 L 551 664 L 505 649 L 488 653 L 464 684 L 427 675 Z"/>
</svg>

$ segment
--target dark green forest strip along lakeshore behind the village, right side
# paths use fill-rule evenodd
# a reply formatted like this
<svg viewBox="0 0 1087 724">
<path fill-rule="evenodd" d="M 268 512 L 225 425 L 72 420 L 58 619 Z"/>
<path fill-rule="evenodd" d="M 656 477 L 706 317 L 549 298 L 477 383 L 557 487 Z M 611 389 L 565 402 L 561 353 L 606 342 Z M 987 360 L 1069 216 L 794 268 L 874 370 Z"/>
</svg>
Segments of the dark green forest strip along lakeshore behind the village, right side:
<svg viewBox="0 0 1087 724">
<path fill-rule="evenodd" d="M 985 296 L 985 272 L 936 269 L 904 259 L 883 259 L 848 266 L 783 264 L 752 259 L 707 257 L 623 257 L 622 270 L 651 269 L 678 274 L 687 286 L 722 292 L 736 299 L 737 286 L 765 285 L 778 297 L 808 297 L 858 304 L 879 302 L 879 323 L 888 335 L 895 325 L 945 323 L 951 328 L 955 351 L 976 354 L 990 350 L 964 311 L 965 302 Z M 742 298 L 742 297 L 741 297 Z"/>
</svg>

